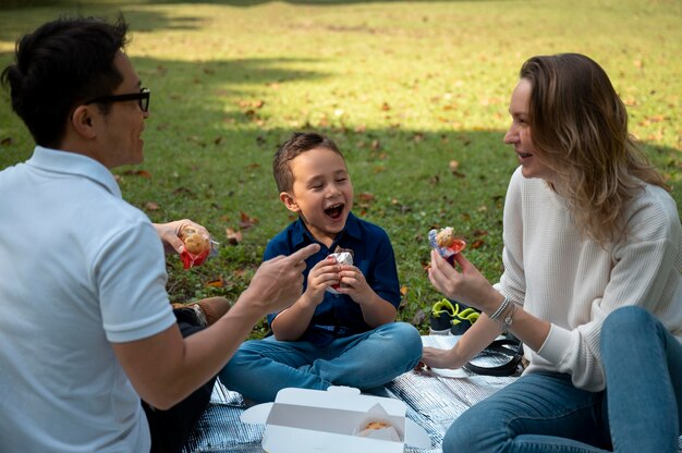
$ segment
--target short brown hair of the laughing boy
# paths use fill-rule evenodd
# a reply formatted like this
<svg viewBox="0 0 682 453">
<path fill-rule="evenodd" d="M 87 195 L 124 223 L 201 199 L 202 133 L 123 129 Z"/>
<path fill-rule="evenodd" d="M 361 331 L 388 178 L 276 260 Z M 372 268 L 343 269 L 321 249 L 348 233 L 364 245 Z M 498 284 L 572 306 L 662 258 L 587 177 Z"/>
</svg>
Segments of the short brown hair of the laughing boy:
<svg viewBox="0 0 682 453">
<path fill-rule="evenodd" d="M 331 138 L 314 132 L 294 132 L 287 142 L 279 146 L 272 161 L 272 174 L 279 192 L 290 192 L 294 185 L 290 162 L 303 152 L 315 148 L 332 150 L 343 159 L 339 147 Z"/>
</svg>

